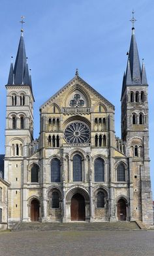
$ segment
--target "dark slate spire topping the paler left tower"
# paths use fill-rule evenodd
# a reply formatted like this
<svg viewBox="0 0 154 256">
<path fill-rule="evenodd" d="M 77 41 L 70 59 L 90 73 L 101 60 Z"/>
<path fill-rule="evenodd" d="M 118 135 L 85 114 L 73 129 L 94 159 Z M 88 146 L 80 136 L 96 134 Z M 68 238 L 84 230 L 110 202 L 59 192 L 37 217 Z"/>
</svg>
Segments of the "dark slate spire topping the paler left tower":
<svg viewBox="0 0 154 256">
<path fill-rule="evenodd" d="M 18 46 L 18 52 L 16 55 L 16 61 L 14 64 L 11 63 L 10 66 L 10 74 L 8 76 L 8 84 L 9 85 L 31 85 L 31 81 L 29 78 L 29 69 L 27 64 L 27 58 L 25 54 L 25 43 L 23 40 L 23 30 L 21 30 L 21 37 Z M 12 72 L 13 69 L 13 72 Z"/>
</svg>

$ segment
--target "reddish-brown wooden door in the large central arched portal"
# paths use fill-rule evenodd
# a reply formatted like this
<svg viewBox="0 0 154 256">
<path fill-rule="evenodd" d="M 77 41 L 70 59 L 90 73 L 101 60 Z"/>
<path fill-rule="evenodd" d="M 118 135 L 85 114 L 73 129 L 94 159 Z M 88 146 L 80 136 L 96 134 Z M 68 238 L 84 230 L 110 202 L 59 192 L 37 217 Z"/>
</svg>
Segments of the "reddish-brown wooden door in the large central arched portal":
<svg viewBox="0 0 154 256">
<path fill-rule="evenodd" d="M 71 221 L 85 221 L 85 200 L 79 193 L 71 199 L 70 217 Z"/>
</svg>

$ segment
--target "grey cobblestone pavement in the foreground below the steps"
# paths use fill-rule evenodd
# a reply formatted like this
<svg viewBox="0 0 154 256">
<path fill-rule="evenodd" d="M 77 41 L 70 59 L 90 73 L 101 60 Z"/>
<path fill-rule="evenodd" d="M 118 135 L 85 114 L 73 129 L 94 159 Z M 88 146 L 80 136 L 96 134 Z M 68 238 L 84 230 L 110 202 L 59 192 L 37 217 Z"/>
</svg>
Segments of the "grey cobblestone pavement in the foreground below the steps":
<svg viewBox="0 0 154 256">
<path fill-rule="evenodd" d="M 154 231 L 0 232 L 1 256 L 154 256 Z"/>
</svg>

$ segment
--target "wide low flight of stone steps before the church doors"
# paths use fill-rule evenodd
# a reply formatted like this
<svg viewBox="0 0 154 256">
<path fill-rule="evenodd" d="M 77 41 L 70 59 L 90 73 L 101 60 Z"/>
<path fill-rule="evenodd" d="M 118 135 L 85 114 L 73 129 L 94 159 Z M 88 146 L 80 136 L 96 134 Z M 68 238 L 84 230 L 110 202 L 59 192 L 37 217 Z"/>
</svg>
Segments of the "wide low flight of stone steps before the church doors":
<svg viewBox="0 0 154 256">
<path fill-rule="evenodd" d="M 71 222 L 71 223 L 41 223 L 29 222 L 18 223 L 12 231 L 100 231 L 100 230 L 136 230 L 140 227 L 135 221 L 117 221 L 117 222 L 95 222 L 87 223 L 85 221 Z"/>
</svg>

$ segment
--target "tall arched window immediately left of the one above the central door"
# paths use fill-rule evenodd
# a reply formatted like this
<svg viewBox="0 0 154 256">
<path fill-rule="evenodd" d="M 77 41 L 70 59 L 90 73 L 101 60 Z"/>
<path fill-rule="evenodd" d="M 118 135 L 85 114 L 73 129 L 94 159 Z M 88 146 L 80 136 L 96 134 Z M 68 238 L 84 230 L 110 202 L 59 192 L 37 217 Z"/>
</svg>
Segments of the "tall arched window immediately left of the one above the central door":
<svg viewBox="0 0 154 256">
<path fill-rule="evenodd" d="M 57 158 L 52 159 L 51 165 L 51 182 L 61 181 L 61 165 Z"/>
</svg>

